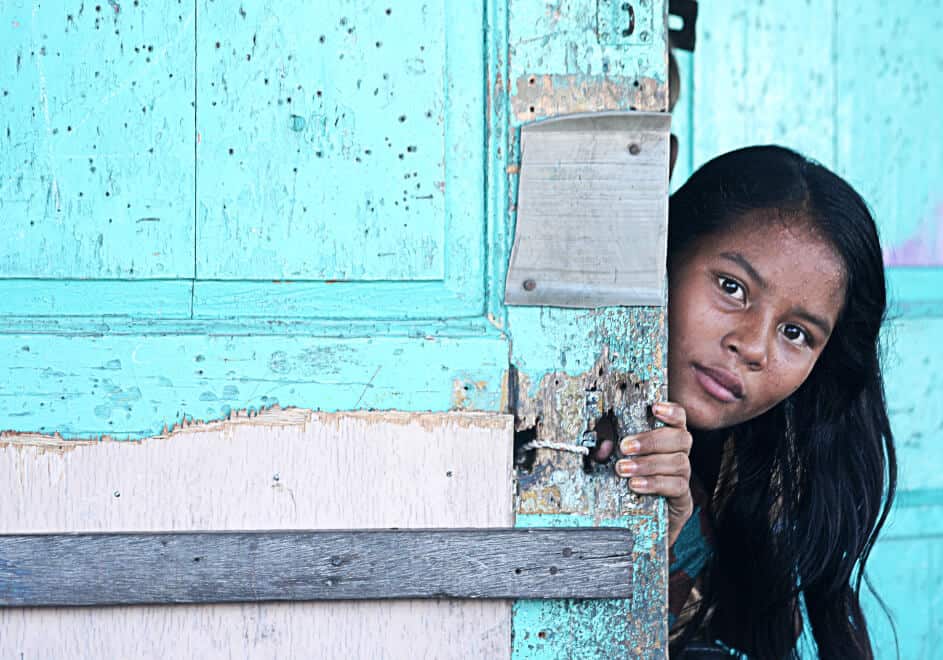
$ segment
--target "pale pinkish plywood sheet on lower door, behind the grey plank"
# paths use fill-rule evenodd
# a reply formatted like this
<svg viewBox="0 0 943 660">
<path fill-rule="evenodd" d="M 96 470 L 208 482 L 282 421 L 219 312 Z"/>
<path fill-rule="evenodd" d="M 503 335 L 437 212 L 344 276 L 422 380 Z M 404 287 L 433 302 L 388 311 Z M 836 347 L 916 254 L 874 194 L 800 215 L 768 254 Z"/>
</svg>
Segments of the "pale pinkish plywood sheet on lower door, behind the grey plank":
<svg viewBox="0 0 943 660">
<path fill-rule="evenodd" d="M 291 410 L 142 442 L 6 435 L 0 530 L 508 527 L 511 423 L 475 413 Z M 502 657 L 508 608 L 435 600 L 14 608 L 0 612 L 0 655 Z"/>
</svg>

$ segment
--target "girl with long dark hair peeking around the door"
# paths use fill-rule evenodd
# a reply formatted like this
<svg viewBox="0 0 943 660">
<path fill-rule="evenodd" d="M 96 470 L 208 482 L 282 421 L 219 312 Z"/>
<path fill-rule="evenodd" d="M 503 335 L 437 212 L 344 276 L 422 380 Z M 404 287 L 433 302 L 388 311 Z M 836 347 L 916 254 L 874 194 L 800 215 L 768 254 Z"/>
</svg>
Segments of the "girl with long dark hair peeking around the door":
<svg viewBox="0 0 943 660">
<path fill-rule="evenodd" d="M 896 461 L 867 206 L 795 152 L 740 149 L 672 196 L 668 253 L 673 403 L 616 471 L 668 498 L 673 652 L 794 656 L 804 603 L 821 657 L 871 658 L 859 592 Z"/>
</svg>

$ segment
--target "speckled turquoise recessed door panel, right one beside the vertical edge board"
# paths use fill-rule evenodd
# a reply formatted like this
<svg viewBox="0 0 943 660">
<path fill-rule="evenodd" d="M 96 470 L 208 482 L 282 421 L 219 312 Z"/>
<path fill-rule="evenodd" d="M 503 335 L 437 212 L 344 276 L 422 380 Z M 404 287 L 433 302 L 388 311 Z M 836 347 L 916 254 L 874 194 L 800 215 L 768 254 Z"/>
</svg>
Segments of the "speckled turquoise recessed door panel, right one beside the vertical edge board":
<svg viewBox="0 0 943 660">
<path fill-rule="evenodd" d="M 394 4 L 200 4 L 200 279 L 443 280 L 481 235 L 482 5 Z"/>
</svg>

